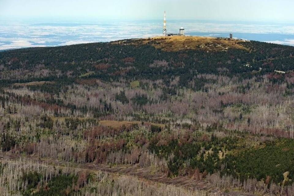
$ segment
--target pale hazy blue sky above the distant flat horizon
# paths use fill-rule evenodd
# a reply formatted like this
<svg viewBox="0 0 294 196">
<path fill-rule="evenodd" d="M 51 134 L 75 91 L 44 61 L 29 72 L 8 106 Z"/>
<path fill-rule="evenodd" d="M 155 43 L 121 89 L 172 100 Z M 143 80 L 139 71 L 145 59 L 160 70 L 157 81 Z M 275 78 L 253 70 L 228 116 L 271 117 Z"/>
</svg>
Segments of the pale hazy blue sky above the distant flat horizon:
<svg viewBox="0 0 294 196">
<path fill-rule="evenodd" d="M 294 21 L 293 0 L 0 0 L 0 18 Z"/>
</svg>

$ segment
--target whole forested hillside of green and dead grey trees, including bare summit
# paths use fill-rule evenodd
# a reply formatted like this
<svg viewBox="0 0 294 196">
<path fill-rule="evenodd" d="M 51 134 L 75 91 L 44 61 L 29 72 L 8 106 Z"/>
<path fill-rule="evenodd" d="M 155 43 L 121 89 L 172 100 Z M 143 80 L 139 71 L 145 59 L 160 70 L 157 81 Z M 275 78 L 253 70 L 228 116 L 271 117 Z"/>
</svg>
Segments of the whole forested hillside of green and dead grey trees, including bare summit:
<svg viewBox="0 0 294 196">
<path fill-rule="evenodd" d="M 2 51 L 0 191 L 294 195 L 293 55 L 201 37 Z"/>
</svg>

